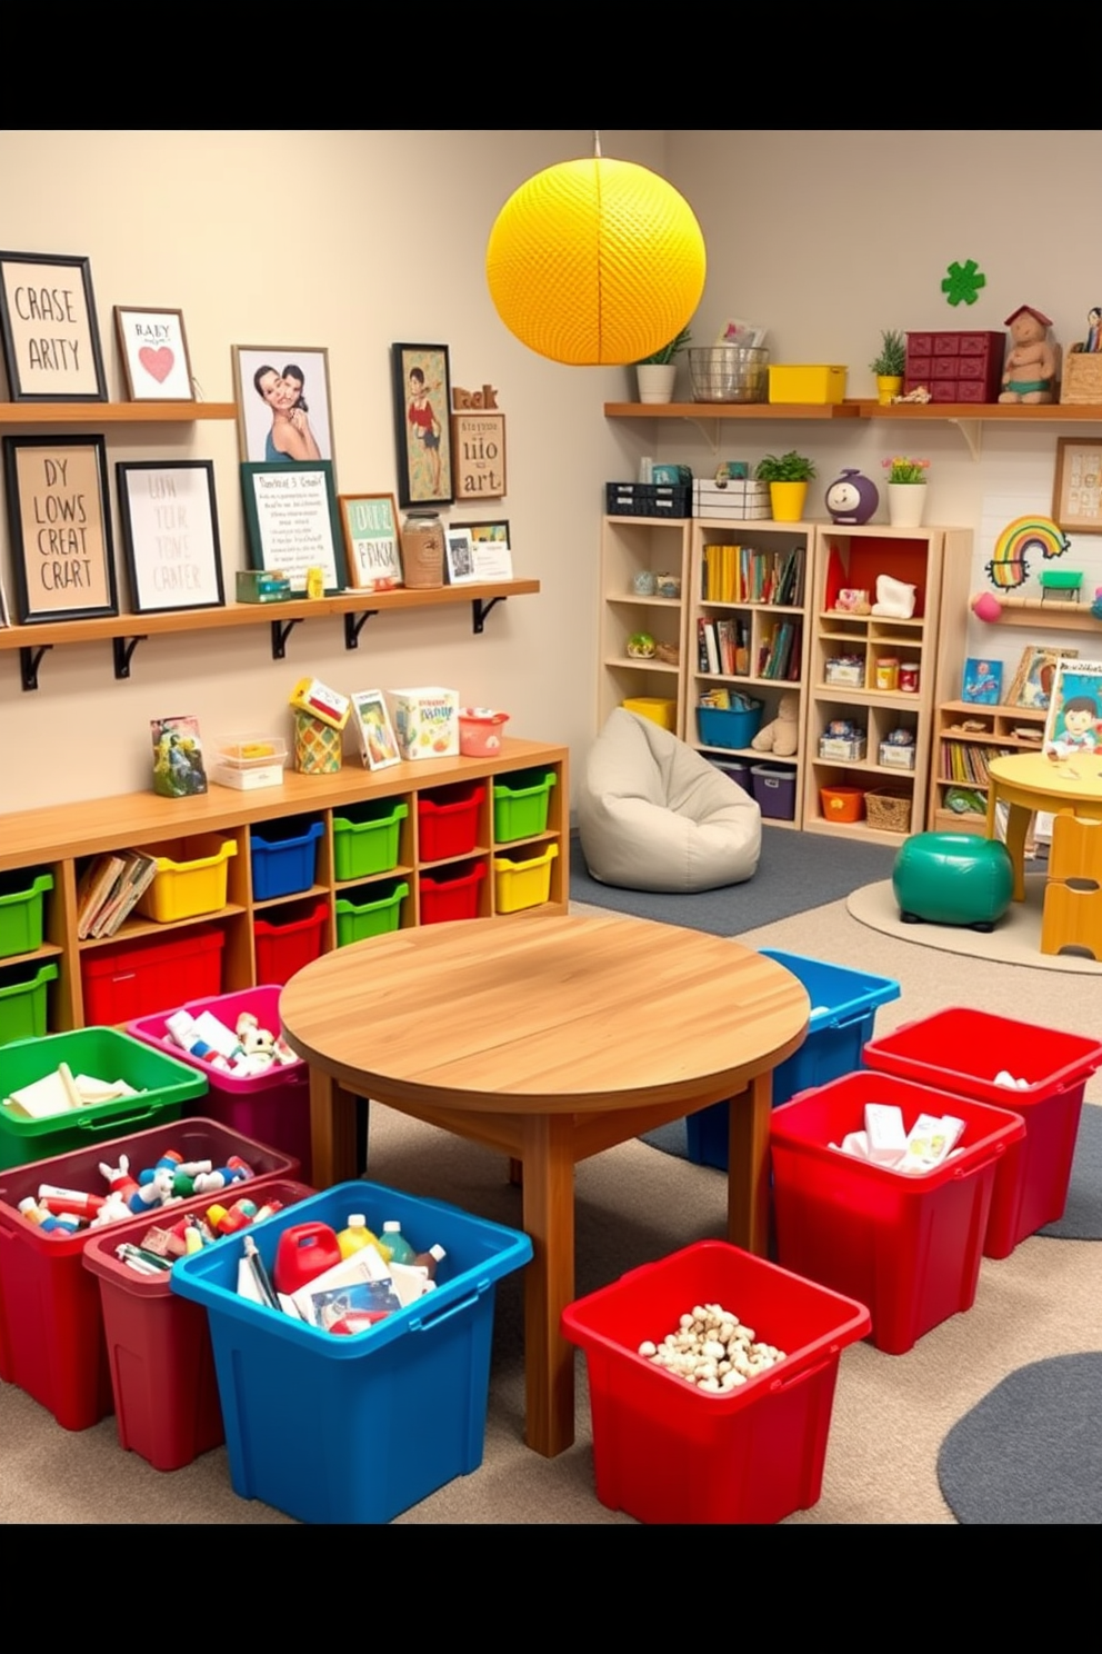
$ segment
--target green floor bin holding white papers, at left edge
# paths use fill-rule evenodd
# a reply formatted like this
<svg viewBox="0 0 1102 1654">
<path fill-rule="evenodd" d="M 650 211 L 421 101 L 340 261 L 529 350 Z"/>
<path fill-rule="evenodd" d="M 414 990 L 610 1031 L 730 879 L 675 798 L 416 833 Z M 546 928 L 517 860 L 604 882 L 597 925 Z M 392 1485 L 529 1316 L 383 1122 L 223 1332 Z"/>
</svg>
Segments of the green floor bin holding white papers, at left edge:
<svg viewBox="0 0 1102 1654">
<path fill-rule="evenodd" d="M 0 1092 L 18 1092 L 33 1080 L 55 1073 L 66 1062 L 73 1073 L 97 1080 L 126 1080 L 140 1097 L 94 1103 L 46 1120 L 28 1120 L 0 1100 L 0 1169 L 28 1166 L 36 1159 L 68 1154 L 89 1143 L 111 1143 L 127 1131 L 170 1125 L 183 1105 L 208 1092 L 207 1075 L 175 1057 L 154 1050 L 144 1040 L 117 1029 L 73 1029 L 45 1039 L 17 1040 L 3 1047 Z"/>
</svg>

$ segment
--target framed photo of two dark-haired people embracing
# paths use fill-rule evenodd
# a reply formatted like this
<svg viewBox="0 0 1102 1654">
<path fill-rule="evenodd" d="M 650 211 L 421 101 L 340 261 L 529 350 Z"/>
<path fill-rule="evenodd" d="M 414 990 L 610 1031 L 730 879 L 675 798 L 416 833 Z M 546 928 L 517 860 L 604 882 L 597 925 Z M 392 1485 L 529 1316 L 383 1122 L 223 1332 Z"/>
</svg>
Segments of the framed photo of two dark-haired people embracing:
<svg viewBox="0 0 1102 1654">
<path fill-rule="evenodd" d="M 241 458 L 253 465 L 332 463 L 329 351 L 235 344 L 231 354 Z"/>
</svg>

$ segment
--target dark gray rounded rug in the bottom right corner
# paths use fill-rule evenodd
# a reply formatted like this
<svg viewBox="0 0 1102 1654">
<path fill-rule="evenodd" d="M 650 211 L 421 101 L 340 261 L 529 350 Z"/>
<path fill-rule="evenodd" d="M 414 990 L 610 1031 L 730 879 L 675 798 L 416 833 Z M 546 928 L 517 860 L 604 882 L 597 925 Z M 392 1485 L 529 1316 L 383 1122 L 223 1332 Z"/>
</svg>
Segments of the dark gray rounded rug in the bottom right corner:
<svg viewBox="0 0 1102 1654">
<path fill-rule="evenodd" d="M 1102 1522 L 1102 1355 L 1033 1361 L 958 1419 L 937 1479 L 963 1523 Z"/>
</svg>

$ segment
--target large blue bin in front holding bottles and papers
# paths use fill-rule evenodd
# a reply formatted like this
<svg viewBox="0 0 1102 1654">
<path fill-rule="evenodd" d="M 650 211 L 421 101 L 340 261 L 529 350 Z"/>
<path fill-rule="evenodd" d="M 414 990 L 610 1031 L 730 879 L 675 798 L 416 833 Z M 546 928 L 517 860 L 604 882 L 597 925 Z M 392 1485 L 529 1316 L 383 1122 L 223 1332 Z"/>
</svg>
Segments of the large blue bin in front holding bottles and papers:
<svg viewBox="0 0 1102 1654">
<path fill-rule="evenodd" d="M 477 1470 L 486 1437 L 494 1287 L 532 1257 L 515 1229 L 377 1183 L 339 1183 L 249 1234 L 269 1274 L 294 1224 L 340 1231 L 388 1217 L 418 1252 L 439 1242 L 436 1288 L 345 1338 L 238 1297 L 240 1245 L 172 1269 L 172 1290 L 210 1322 L 230 1479 L 299 1522 L 390 1522 Z"/>
</svg>

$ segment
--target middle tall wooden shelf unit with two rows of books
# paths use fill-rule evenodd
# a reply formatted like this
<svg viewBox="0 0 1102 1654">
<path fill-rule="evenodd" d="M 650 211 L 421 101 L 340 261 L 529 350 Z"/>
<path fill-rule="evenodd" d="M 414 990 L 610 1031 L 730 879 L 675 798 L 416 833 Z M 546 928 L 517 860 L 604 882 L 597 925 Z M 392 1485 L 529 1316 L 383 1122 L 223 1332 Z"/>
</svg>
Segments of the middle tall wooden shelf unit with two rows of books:
<svg viewBox="0 0 1102 1654">
<path fill-rule="evenodd" d="M 714 761 L 739 753 L 747 764 L 772 762 L 772 754 L 753 751 L 753 736 L 777 716 L 781 695 L 795 695 L 796 751 L 780 761 L 780 779 L 762 777 L 762 819 L 780 827 L 798 827 L 803 814 L 813 554 L 810 523 L 692 521 L 684 738 Z M 701 696 L 717 688 L 750 696 L 755 706 L 701 706 Z"/>
</svg>

